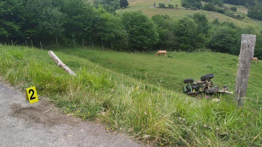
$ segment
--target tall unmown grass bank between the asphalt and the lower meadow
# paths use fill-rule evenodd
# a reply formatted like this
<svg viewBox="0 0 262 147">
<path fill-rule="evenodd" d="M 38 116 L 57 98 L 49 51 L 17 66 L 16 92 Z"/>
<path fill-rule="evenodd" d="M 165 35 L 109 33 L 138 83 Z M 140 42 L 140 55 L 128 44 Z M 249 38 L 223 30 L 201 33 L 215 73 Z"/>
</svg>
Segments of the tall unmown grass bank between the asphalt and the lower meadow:
<svg viewBox="0 0 262 147">
<path fill-rule="evenodd" d="M 262 145 L 261 102 L 254 107 L 253 98 L 237 109 L 233 96 L 214 96 L 220 102 L 195 100 L 141 81 L 124 83 L 123 76 L 88 61 L 89 66 L 81 64 L 75 56 L 59 53 L 59 57 L 65 62 L 74 59 L 76 76 L 57 67 L 45 50 L 4 46 L 0 75 L 24 89 L 36 86 L 40 95 L 68 115 L 102 122 L 107 129 L 128 132 L 146 144 Z"/>
</svg>

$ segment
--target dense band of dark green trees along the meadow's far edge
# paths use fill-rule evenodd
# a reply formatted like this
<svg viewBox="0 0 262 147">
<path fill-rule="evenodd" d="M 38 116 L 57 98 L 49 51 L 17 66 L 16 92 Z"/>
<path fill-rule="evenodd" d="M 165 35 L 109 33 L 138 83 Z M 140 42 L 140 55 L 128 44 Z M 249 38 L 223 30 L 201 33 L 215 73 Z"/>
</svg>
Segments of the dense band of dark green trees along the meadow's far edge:
<svg viewBox="0 0 262 147">
<path fill-rule="evenodd" d="M 82 0 L 1 1 L 0 11 L 2 43 L 30 37 L 33 43 L 46 44 L 54 43 L 57 37 L 64 45 L 72 45 L 73 39 L 81 44 L 83 39 L 89 44 L 103 42 L 106 47 L 112 43 L 116 50 L 210 48 L 238 55 L 241 34 L 256 34 L 251 26 L 241 29 L 218 19 L 208 22 L 200 13 L 180 19 L 168 15 L 150 19 L 141 11 L 112 14 L 101 5 L 96 8 Z M 255 56 L 259 58 L 261 42 L 262 36 L 257 34 Z"/>
</svg>

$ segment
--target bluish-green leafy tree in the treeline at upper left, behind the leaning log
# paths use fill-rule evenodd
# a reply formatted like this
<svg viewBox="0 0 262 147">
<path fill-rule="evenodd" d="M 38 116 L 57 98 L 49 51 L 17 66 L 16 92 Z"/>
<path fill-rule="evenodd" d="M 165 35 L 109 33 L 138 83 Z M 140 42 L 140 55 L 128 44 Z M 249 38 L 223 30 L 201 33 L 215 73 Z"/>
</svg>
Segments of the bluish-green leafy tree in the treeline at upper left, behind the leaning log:
<svg viewBox="0 0 262 147">
<path fill-rule="evenodd" d="M 64 15 L 52 0 L 28 0 L 25 3 L 27 18 L 23 27 L 25 35 L 43 39 L 61 36 L 64 29 Z"/>
</svg>

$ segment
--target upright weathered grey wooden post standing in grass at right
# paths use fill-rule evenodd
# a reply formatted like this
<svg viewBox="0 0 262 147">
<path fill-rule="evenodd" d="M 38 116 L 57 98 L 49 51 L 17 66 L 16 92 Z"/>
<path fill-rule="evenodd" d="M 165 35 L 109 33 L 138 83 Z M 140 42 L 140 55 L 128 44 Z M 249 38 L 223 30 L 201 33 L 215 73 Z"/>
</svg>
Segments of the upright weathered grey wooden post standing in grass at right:
<svg viewBox="0 0 262 147">
<path fill-rule="evenodd" d="M 236 74 L 235 102 L 241 107 L 245 101 L 250 64 L 254 57 L 256 35 L 242 34 Z"/>
</svg>

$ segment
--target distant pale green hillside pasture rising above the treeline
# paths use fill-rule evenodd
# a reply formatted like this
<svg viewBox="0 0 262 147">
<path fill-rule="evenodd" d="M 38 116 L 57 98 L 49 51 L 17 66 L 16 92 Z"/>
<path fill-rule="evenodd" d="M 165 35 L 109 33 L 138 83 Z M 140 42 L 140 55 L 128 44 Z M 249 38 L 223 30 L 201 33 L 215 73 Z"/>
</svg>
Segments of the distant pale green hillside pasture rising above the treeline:
<svg viewBox="0 0 262 147">
<path fill-rule="evenodd" d="M 158 4 L 159 2 L 164 2 L 164 1 L 160 1 L 160 0 L 155 0 L 155 1 L 130 0 L 129 6 L 127 8 L 116 10 L 116 12 L 120 13 L 120 12 L 125 12 L 125 11 L 141 10 L 142 12 L 144 12 L 149 17 L 152 17 L 155 14 L 167 14 L 167 15 L 170 15 L 171 17 L 173 17 L 173 18 L 180 18 L 183 15 L 191 15 L 191 14 L 194 14 L 196 12 L 201 12 L 201 13 L 206 14 L 206 17 L 208 18 L 209 21 L 214 20 L 214 18 L 218 18 L 219 21 L 221 21 L 221 22 L 224 22 L 224 21 L 233 22 L 240 27 L 247 27 L 249 25 L 253 26 L 258 32 L 260 32 L 261 29 L 262 29 L 261 21 L 255 21 L 255 20 L 252 20 L 251 18 L 246 17 L 244 19 L 236 19 L 236 18 L 232 18 L 232 17 L 226 16 L 226 15 L 223 15 L 221 13 L 204 11 L 204 10 L 193 11 L 193 10 L 168 10 L 168 9 L 150 8 L 154 4 L 154 2 L 156 4 Z M 181 7 L 181 1 L 180 0 L 171 0 L 170 2 L 166 3 L 166 5 L 167 4 L 174 4 L 174 5 L 178 4 Z M 233 6 L 233 5 L 227 5 L 227 4 L 225 4 L 225 5 L 228 6 L 228 7 Z M 246 9 L 241 7 L 239 10 L 245 11 Z M 241 13 L 241 12 L 237 12 L 236 15 L 237 14 L 244 15 L 244 13 Z"/>
</svg>

